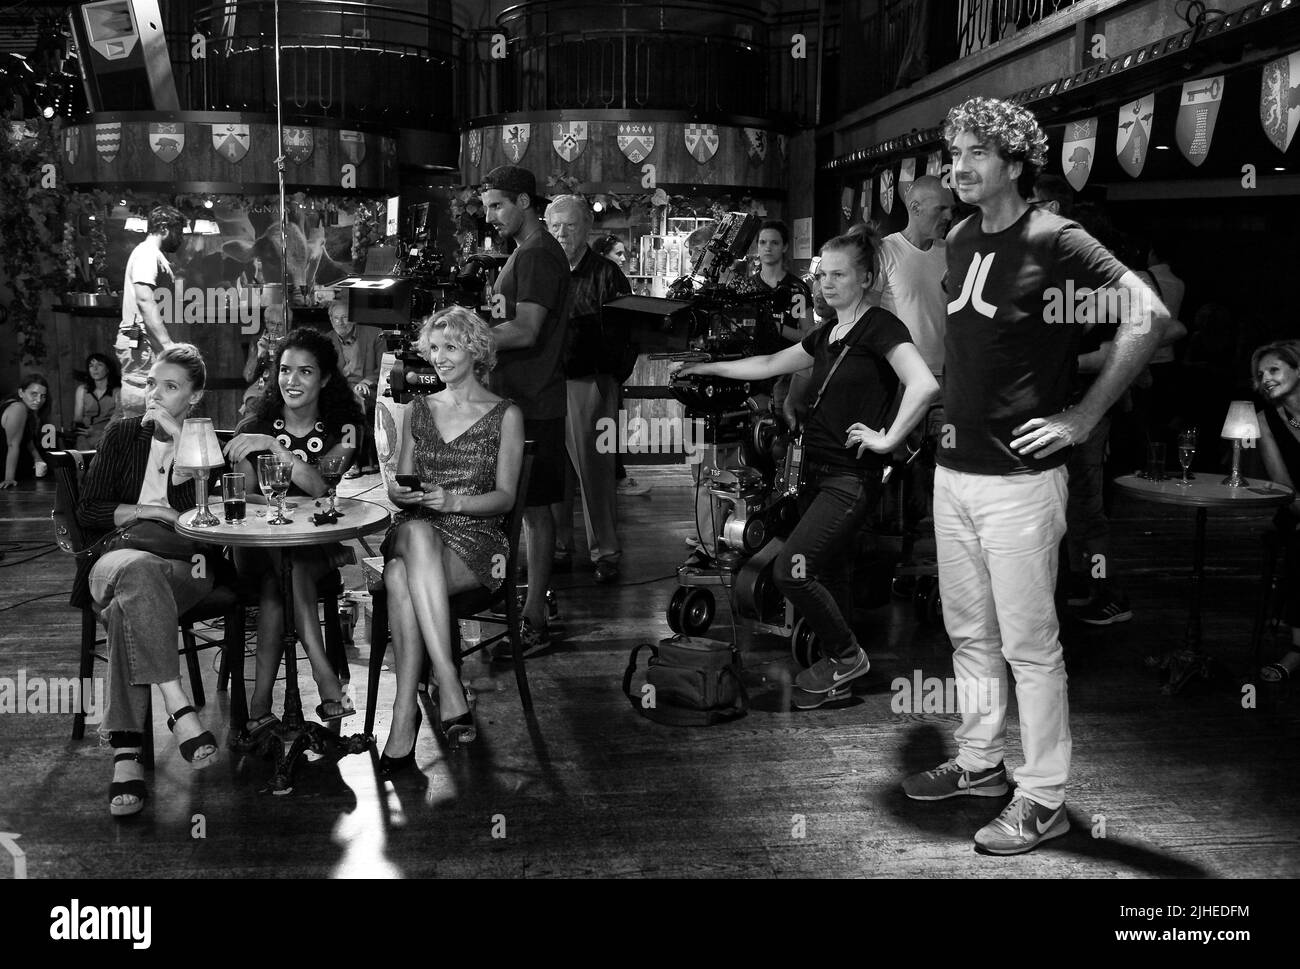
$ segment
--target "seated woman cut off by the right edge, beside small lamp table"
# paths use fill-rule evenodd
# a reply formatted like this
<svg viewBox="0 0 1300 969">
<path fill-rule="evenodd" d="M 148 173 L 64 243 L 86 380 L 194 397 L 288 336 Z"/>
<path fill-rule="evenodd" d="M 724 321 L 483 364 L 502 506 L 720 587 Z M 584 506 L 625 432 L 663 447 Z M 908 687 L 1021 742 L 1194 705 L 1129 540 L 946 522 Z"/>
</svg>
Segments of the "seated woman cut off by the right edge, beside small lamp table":
<svg viewBox="0 0 1300 969">
<path fill-rule="evenodd" d="M 1266 402 L 1258 412 L 1260 457 L 1269 480 L 1300 492 L 1300 341 L 1261 346 L 1251 356 L 1254 389 Z M 1274 519 L 1286 542 L 1286 611 L 1291 649 L 1260 676 L 1269 683 L 1291 679 L 1300 670 L 1300 497 Z"/>
</svg>

